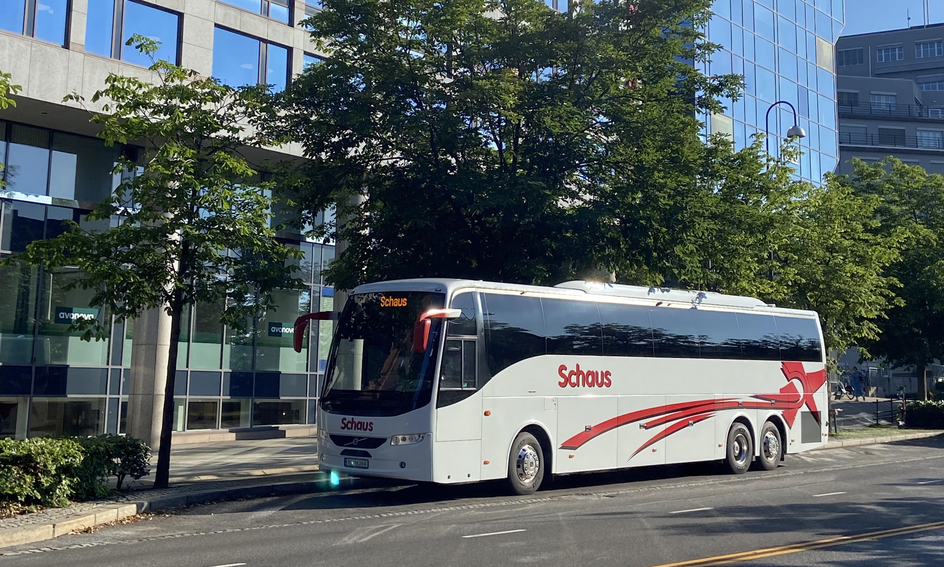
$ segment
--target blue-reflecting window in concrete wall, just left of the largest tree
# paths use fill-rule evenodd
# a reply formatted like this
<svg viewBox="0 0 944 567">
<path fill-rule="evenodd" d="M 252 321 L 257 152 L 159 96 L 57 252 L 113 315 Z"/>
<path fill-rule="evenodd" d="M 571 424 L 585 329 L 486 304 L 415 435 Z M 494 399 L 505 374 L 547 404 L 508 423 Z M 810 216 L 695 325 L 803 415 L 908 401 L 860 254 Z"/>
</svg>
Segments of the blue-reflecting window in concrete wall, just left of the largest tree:
<svg viewBox="0 0 944 567">
<path fill-rule="evenodd" d="M 272 85 L 285 89 L 289 73 L 289 50 L 275 43 L 217 27 L 213 32 L 213 76 L 231 87 Z"/>
</svg>

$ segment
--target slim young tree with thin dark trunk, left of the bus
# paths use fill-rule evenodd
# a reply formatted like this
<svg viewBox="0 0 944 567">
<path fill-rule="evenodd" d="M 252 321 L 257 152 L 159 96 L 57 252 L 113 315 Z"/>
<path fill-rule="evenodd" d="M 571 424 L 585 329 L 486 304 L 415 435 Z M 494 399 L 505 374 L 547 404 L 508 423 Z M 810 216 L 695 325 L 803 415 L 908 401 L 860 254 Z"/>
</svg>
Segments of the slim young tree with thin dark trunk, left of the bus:
<svg viewBox="0 0 944 567">
<path fill-rule="evenodd" d="M 152 56 L 157 43 L 141 36 L 128 41 Z M 269 141 L 247 128 L 269 118 L 267 87 L 232 89 L 164 60 L 150 67 L 150 84 L 109 75 L 92 97 L 103 113 L 92 122 L 108 144 L 139 142 L 138 159 L 122 158 L 125 175 L 110 199 L 89 220 L 110 221 L 93 231 L 72 223 L 58 238 L 33 242 L 22 258 L 47 267 L 74 266 L 86 277 L 72 284 L 94 292 L 92 304 L 125 320 L 146 309 L 170 317 L 170 358 L 155 486 L 166 487 L 174 414 L 177 342 L 185 309 L 197 302 L 253 298 L 230 306 L 228 325 L 243 324 L 252 310 L 271 306 L 271 292 L 294 284 L 284 268 L 295 253 L 276 241 L 272 199 L 241 151 Z M 76 94 L 68 100 L 80 100 Z M 258 305 L 252 305 L 257 303 Z M 108 322 L 79 321 L 82 338 L 104 338 Z"/>
</svg>

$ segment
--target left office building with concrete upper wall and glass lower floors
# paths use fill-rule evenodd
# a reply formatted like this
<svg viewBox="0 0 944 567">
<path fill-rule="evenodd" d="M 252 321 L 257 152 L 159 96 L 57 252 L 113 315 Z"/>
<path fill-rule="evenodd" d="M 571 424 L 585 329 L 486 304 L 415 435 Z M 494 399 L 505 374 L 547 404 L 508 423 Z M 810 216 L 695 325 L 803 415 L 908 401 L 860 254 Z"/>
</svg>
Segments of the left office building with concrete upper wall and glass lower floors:
<svg viewBox="0 0 944 567">
<path fill-rule="evenodd" d="M 201 75 L 280 90 L 316 58 L 293 25 L 313 9 L 293 0 L 192 0 L 186 7 L 162 0 L 0 2 L 0 69 L 24 85 L 18 107 L 0 117 L 0 258 L 56 236 L 63 220 L 86 223 L 86 213 L 121 182 L 110 173 L 117 158 L 139 152 L 83 135 L 93 132 L 88 114 L 61 104 L 76 89 L 91 98 L 107 72 L 137 75 L 149 65 L 125 45 L 132 34 L 160 38 L 159 57 Z M 259 29 L 264 37 L 253 35 Z M 42 60 L 46 75 L 18 73 L 24 53 L 34 69 Z M 78 64 L 61 67 L 60 60 Z M 334 246 L 278 235 L 303 253 L 297 263 L 304 289 L 276 292 L 278 307 L 242 330 L 220 323 L 220 305 L 190 309 L 177 357 L 176 431 L 314 423 L 331 324 L 312 325 L 301 354 L 286 327 L 301 313 L 333 308 L 322 273 Z M 67 289 L 82 276 L 76 269 L 0 267 L 0 439 L 126 430 L 134 323 L 115 323 L 89 305 L 91 292 Z M 76 314 L 105 322 L 109 338 L 82 341 L 69 331 Z"/>
</svg>

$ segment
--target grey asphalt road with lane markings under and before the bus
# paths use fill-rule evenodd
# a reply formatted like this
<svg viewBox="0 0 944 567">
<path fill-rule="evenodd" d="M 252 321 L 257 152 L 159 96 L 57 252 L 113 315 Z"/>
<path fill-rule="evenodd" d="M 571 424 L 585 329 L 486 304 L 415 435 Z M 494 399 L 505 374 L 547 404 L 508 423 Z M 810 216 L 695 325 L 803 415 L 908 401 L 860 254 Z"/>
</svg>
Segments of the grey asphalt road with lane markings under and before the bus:
<svg viewBox="0 0 944 567">
<path fill-rule="evenodd" d="M 529 497 L 345 484 L 11 548 L 0 565 L 944 565 L 940 438 L 789 456 L 770 473 L 570 475 Z"/>
</svg>

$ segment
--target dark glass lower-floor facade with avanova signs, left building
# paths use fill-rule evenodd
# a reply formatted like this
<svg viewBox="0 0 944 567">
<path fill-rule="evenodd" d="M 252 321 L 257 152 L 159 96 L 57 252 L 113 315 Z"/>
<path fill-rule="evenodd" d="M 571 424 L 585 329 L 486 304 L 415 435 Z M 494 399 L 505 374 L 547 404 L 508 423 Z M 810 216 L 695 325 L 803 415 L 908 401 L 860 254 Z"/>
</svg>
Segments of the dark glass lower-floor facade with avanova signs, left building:
<svg viewBox="0 0 944 567">
<path fill-rule="evenodd" d="M 7 183 L 0 258 L 60 234 L 64 220 L 95 228 L 85 214 L 120 183 L 111 173 L 118 156 L 135 151 L 0 122 Z M 277 291 L 276 306 L 243 329 L 221 324 L 222 302 L 189 309 L 178 344 L 175 430 L 314 423 L 332 327 L 312 325 L 298 354 L 292 324 L 309 309 L 332 309 L 322 273 L 334 247 L 289 230 L 278 235 L 301 251 L 291 263 L 305 287 Z M 69 286 L 81 277 L 77 269 L 0 267 L 0 439 L 124 431 L 134 322 L 116 323 L 90 306 L 91 292 Z M 69 331 L 75 313 L 108 322 L 109 337 L 82 341 Z"/>
</svg>

